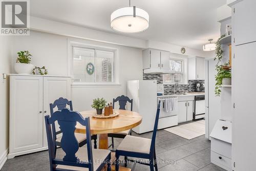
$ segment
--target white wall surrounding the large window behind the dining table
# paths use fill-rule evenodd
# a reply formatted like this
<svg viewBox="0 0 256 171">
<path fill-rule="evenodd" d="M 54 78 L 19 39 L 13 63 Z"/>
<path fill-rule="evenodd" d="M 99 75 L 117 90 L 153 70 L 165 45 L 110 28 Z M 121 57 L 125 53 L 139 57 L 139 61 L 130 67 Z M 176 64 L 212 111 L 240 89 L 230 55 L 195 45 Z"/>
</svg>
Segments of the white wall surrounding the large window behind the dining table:
<svg viewBox="0 0 256 171">
<path fill-rule="evenodd" d="M 33 55 L 31 63 L 35 66 L 46 66 L 49 75 L 69 75 L 68 41 L 119 49 L 119 82 L 121 85 L 72 87 L 73 105 L 77 111 L 90 110 L 92 99 L 97 97 L 104 97 L 111 102 L 116 96 L 126 95 L 126 81 L 143 78 L 142 50 L 137 48 L 31 31 L 30 36 L 15 38 L 13 51 L 29 50 Z M 16 55 L 12 57 L 13 62 L 15 59 Z"/>
</svg>

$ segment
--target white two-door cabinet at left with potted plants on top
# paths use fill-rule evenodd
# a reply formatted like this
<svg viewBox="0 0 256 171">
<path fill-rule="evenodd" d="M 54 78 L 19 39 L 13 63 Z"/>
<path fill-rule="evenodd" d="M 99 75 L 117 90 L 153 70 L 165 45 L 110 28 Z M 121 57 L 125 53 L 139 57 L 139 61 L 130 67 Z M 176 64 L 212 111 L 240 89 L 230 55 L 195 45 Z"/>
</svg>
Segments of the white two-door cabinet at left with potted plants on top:
<svg viewBox="0 0 256 171">
<path fill-rule="evenodd" d="M 55 99 L 70 99 L 70 86 L 70 77 L 10 75 L 9 159 L 48 148 L 44 116 Z"/>
</svg>

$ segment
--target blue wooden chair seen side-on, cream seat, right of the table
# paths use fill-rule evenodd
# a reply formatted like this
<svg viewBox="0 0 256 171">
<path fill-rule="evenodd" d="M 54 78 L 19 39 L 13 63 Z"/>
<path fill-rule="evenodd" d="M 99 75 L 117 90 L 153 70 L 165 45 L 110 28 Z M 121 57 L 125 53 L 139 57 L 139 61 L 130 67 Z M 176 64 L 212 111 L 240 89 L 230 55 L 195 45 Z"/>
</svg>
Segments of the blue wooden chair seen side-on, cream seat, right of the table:
<svg viewBox="0 0 256 171">
<path fill-rule="evenodd" d="M 138 162 L 138 163 L 149 165 L 151 171 L 154 171 L 154 166 L 156 171 L 158 170 L 157 163 L 156 163 L 155 142 L 156 142 L 159 113 L 160 113 L 160 101 L 157 107 L 157 114 L 156 114 L 156 120 L 155 120 L 152 139 L 127 135 L 122 140 L 122 142 L 116 149 L 116 170 L 117 171 L 119 169 L 119 156 L 149 159 L 150 160 L 149 164 L 142 163 L 142 162 Z"/>
</svg>

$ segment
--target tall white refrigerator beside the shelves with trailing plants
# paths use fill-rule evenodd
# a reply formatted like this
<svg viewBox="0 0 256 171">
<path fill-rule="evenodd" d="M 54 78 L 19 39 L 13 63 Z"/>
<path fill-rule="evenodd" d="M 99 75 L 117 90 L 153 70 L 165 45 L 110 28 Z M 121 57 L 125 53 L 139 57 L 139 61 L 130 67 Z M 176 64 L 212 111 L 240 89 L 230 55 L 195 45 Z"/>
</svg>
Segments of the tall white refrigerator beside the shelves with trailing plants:
<svg viewBox="0 0 256 171">
<path fill-rule="evenodd" d="M 218 119 L 221 119 L 221 98 L 215 96 L 215 75 L 217 61 L 205 61 L 205 137 L 209 135 Z"/>
</svg>

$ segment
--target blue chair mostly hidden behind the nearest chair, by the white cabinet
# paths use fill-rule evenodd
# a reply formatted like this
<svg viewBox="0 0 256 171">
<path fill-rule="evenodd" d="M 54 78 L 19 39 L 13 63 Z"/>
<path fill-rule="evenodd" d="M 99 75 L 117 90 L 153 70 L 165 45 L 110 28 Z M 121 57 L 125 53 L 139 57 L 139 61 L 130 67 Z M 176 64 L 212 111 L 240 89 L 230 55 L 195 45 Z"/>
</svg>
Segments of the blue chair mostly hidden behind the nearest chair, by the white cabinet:
<svg viewBox="0 0 256 171">
<path fill-rule="evenodd" d="M 58 110 L 61 111 L 62 109 L 66 108 L 67 105 L 69 105 L 70 110 L 73 111 L 72 101 L 69 101 L 68 99 L 62 98 L 62 97 L 55 100 L 53 103 L 50 104 L 50 113 L 51 113 L 51 115 L 53 114 L 53 110 L 56 106 L 57 106 Z M 57 138 L 57 135 L 61 134 L 61 131 L 56 132 L 55 125 L 53 125 L 52 130 L 53 130 L 53 132 L 55 132 L 55 134 L 54 134 L 55 136 L 53 137 L 53 140 L 56 142 L 55 146 L 60 146 L 61 145 L 60 144 L 61 136 L 59 136 Z M 86 136 L 84 136 L 84 134 L 75 133 L 75 136 L 76 136 L 76 139 L 79 143 L 79 147 L 86 144 L 87 141 L 86 141 Z M 94 148 L 97 148 L 97 135 L 92 135 L 91 138 L 94 140 Z"/>
</svg>

